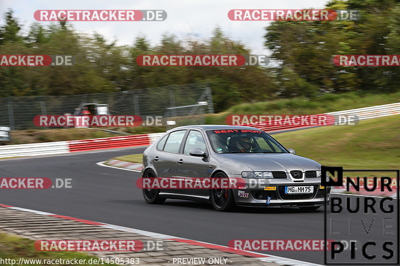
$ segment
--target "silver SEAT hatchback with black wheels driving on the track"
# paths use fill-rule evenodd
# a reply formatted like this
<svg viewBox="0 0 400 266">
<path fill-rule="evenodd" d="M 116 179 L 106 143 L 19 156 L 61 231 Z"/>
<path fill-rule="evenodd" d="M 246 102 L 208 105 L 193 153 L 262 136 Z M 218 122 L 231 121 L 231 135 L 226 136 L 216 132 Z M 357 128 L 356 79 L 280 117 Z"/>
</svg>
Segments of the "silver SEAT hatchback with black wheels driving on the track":
<svg viewBox="0 0 400 266">
<path fill-rule="evenodd" d="M 184 180 L 240 179 L 239 187 L 143 188 L 147 203 L 165 199 L 211 202 L 217 211 L 234 206 L 298 207 L 316 210 L 329 203 L 321 186 L 320 164 L 295 155 L 271 136 L 252 127 L 193 125 L 167 131 L 143 153 L 142 177 Z M 326 190 L 326 192 L 325 192 Z"/>
</svg>

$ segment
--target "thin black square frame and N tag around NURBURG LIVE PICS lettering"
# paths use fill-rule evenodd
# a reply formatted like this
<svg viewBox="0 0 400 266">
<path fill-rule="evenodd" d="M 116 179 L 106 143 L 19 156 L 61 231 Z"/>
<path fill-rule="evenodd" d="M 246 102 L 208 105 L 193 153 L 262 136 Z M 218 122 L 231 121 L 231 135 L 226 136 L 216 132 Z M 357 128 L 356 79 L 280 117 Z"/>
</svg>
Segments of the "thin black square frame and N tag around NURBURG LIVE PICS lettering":
<svg viewBox="0 0 400 266">
<path fill-rule="evenodd" d="M 337 175 L 335 176 L 335 172 Z M 387 263 L 387 264 L 382 264 L 382 263 L 327 263 L 326 260 L 326 245 L 324 245 L 324 251 L 323 251 L 323 259 L 324 259 L 324 264 L 325 265 L 400 265 L 400 254 L 399 254 L 399 247 L 400 247 L 400 205 L 399 205 L 399 199 L 400 199 L 400 189 L 399 189 L 399 181 L 400 181 L 400 170 L 393 170 L 393 169 L 344 169 L 343 167 L 335 167 L 335 166 L 321 166 L 321 185 L 322 186 L 331 186 L 331 187 L 340 187 L 343 184 L 343 172 L 395 172 L 396 173 L 396 179 L 397 179 L 397 190 L 396 190 L 396 203 L 397 203 L 397 262 L 396 263 Z M 326 174 L 330 173 L 331 175 L 335 176 L 337 180 L 332 180 L 329 178 L 328 181 L 326 181 Z M 324 226 L 324 242 L 327 242 L 326 238 L 326 212 L 327 212 L 327 190 L 325 189 L 325 206 L 324 206 L 324 212 L 323 212 L 323 226 Z"/>
</svg>

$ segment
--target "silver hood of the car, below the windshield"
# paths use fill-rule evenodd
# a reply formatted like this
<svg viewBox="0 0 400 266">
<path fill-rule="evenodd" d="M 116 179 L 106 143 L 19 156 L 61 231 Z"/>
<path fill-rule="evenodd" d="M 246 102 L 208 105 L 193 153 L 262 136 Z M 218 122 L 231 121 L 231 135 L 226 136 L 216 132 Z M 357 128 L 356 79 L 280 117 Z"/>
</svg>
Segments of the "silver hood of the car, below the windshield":
<svg viewBox="0 0 400 266">
<path fill-rule="evenodd" d="M 311 159 L 291 153 L 226 153 L 220 155 L 232 163 L 245 164 L 253 171 L 284 171 L 288 173 L 291 170 L 320 170 L 321 166 Z"/>
</svg>

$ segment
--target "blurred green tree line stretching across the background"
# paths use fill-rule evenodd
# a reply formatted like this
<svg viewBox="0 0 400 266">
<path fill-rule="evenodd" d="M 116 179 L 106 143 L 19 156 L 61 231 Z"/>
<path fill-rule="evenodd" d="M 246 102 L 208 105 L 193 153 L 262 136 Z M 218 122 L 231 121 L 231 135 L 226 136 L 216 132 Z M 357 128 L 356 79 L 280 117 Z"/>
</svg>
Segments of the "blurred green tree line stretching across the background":
<svg viewBox="0 0 400 266">
<path fill-rule="evenodd" d="M 145 35 L 130 45 L 93 32 L 78 33 L 68 22 L 22 24 L 12 10 L 0 25 L 1 54 L 74 55 L 72 66 L 0 67 L 0 97 L 73 95 L 126 91 L 171 84 L 210 82 L 216 111 L 241 102 L 346 91 L 398 90 L 399 67 L 342 67 L 335 54 L 398 54 L 400 0 L 334 0 L 328 9 L 356 9 L 358 20 L 274 21 L 265 27 L 272 66 L 139 66 L 140 54 L 251 54 L 215 28 L 208 39 L 173 34 L 151 45 Z M 133 38 L 133 36 L 132 36 Z"/>
</svg>

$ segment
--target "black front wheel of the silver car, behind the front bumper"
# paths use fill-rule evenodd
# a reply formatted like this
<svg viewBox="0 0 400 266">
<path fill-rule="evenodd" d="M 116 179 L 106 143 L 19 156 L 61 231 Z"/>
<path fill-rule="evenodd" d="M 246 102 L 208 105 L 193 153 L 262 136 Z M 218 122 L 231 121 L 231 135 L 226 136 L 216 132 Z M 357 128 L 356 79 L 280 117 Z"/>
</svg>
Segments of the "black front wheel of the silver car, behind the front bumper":
<svg viewBox="0 0 400 266">
<path fill-rule="evenodd" d="M 228 178 L 224 173 L 218 173 L 214 178 Z M 235 206 L 231 189 L 210 189 L 212 207 L 218 212 L 229 212 Z"/>
</svg>

